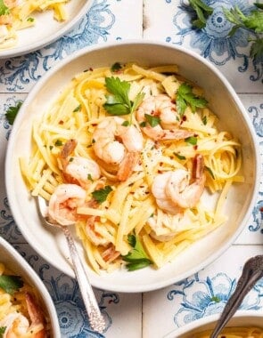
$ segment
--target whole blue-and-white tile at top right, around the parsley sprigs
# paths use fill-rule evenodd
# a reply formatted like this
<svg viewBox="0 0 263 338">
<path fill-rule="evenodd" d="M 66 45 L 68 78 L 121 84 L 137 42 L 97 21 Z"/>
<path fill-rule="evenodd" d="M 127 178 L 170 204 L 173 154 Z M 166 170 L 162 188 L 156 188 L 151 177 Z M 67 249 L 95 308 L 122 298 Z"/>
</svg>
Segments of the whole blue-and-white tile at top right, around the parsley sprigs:
<svg viewBox="0 0 263 338">
<path fill-rule="evenodd" d="M 242 12 L 251 11 L 253 1 L 205 0 L 214 12 L 205 28 L 193 28 L 193 10 L 185 0 L 162 0 L 152 5 L 144 0 L 144 38 L 180 45 L 201 54 L 214 64 L 234 86 L 237 93 L 262 92 L 263 60 L 253 64 L 250 58 L 251 43 L 248 31 L 238 29 L 228 36 L 232 28 L 222 11 L 222 5 L 238 5 Z"/>
</svg>

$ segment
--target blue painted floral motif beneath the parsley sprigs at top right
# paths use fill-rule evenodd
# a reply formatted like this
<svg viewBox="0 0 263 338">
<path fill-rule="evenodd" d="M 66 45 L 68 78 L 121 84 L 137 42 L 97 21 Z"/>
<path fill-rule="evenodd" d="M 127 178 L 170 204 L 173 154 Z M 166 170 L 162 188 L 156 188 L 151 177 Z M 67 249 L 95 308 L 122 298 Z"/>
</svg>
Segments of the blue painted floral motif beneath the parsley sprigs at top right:
<svg viewBox="0 0 263 338">
<path fill-rule="evenodd" d="M 249 67 L 249 38 L 255 34 L 246 29 L 237 29 L 233 36 L 229 32 L 233 24 L 226 20 L 222 7 L 230 9 L 238 6 L 244 15 L 247 15 L 254 8 L 244 0 L 205 0 L 213 8 L 213 13 L 207 20 L 205 28 L 193 28 L 193 9 L 180 0 L 178 11 L 174 16 L 173 23 L 177 29 L 176 36 L 168 36 L 166 41 L 173 44 L 184 44 L 187 36 L 190 37 L 190 47 L 197 50 L 201 55 L 217 66 L 225 65 L 229 60 L 240 59 L 239 72 L 244 72 Z M 263 60 L 252 62 L 255 74 L 250 76 L 251 81 L 259 80 L 263 75 Z"/>
</svg>

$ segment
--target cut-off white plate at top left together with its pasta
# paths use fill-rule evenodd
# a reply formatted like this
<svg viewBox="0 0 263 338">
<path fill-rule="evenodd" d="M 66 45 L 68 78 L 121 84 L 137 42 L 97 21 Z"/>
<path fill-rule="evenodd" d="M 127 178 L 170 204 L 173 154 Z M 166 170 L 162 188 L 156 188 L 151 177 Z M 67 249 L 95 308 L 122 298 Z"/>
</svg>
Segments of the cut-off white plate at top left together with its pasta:
<svg viewBox="0 0 263 338">
<path fill-rule="evenodd" d="M 53 43 L 86 15 L 91 5 L 90 0 L 2 0 L 0 59 Z"/>
</svg>

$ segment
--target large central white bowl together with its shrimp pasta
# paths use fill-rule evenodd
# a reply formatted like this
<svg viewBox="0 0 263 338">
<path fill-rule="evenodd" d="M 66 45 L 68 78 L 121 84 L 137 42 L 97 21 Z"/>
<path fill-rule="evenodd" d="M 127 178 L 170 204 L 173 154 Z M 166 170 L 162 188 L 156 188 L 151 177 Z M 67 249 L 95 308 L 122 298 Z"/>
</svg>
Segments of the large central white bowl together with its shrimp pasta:
<svg viewBox="0 0 263 338">
<path fill-rule="evenodd" d="M 93 286 L 143 292 L 213 262 L 240 234 L 259 186 L 253 127 L 234 89 L 183 48 L 132 41 L 48 71 L 15 119 L 5 162 L 15 221 L 74 276 L 69 226 Z"/>
</svg>

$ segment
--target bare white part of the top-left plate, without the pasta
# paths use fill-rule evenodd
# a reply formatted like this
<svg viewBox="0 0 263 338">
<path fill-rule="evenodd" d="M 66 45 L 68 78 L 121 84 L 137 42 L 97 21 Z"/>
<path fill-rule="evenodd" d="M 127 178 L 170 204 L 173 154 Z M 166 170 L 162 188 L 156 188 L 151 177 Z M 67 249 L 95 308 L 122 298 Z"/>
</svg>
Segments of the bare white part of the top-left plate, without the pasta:
<svg viewBox="0 0 263 338">
<path fill-rule="evenodd" d="M 65 4 L 69 19 L 58 22 L 53 19 L 53 11 L 34 13 L 36 25 L 17 31 L 18 44 L 10 49 L 0 50 L 0 59 L 11 58 L 36 51 L 51 44 L 66 34 L 80 20 L 92 5 L 92 0 L 70 0 Z"/>
</svg>

